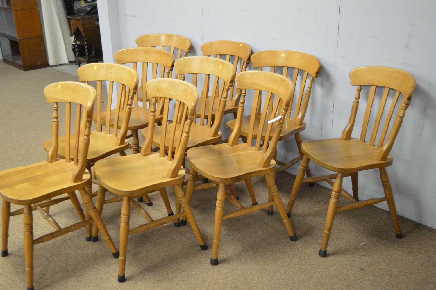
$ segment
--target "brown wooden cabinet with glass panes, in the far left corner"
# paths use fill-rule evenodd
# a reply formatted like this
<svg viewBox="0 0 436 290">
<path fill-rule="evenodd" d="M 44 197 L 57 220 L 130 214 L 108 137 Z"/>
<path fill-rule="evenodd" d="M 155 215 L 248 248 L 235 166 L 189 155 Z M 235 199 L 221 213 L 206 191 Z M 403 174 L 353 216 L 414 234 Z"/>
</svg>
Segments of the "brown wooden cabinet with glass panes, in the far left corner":
<svg viewBox="0 0 436 290">
<path fill-rule="evenodd" d="M 0 47 L 3 61 L 21 70 L 48 66 L 36 0 L 0 0 Z"/>
</svg>

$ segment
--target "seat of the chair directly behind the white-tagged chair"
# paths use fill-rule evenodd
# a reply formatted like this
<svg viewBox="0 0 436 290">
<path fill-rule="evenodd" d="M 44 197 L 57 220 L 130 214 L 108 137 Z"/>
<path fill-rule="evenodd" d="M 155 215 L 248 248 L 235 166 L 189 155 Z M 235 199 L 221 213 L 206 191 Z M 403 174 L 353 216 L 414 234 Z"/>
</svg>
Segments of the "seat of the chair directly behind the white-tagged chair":
<svg viewBox="0 0 436 290">
<path fill-rule="evenodd" d="M 261 117 L 261 115 L 258 115 L 258 116 L 256 116 L 256 119 L 255 119 L 253 139 L 257 139 L 257 131 L 259 130 L 260 117 Z M 262 140 L 265 139 L 266 129 L 268 128 L 268 120 L 269 119 L 271 119 L 271 115 L 266 114 L 265 124 L 263 126 L 263 132 L 262 132 Z M 278 121 L 275 121 L 272 124 L 272 130 L 271 130 L 271 133 L 269 134 L 269 140 L 272 139 L 272 135 L 274 133 L 274 130 L 276 129 L 277 122 Z M 287 127 L 286 127 L 286 123 L 287 123 Z M 289 136 L 292 136 L 292 135 L 306 129 L 305 123 L 303 123 L 303 125 L 301 125 L 301 126 L 296 126 L 294 118 L 286 118 L 286 123 L 283 123 L 283 130 L 282 130 L 282 133 L 280 133 L 279 140 L 285 140 Z M 236 124 L 236 119 L 228 121 L 226 124 L 227 129 L 232 131 L 235 128 L 235 124 Z M 245 137 L 248 136 L 249 125 L 250 125 L 250 116 L 244 116 L 242 118 L 242 124 L 241 124 L 241 135 L 242 136 L 245 136 Z M 287 128 L 287 130 L 286 130 L 286 128 Z"/>
</svg>

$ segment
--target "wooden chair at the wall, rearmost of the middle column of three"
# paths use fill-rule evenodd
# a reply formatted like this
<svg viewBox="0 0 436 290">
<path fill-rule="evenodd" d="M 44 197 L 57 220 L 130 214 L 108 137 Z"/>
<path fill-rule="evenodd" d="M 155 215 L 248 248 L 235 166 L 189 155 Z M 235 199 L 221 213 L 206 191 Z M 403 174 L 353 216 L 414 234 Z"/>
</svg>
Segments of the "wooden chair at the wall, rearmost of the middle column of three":
<svg viewBox="0 0 436 290">
<path fill-rule="evenodd" d="M 238 41 L 230 41 L 230 40 L 216 40 L 216 41 L 209 41 L 201 45 L 201 52 L 203 52 L 204 56 L 212 56 L 215 55 L 216 58 L 225 57 L 226 61 L 231 62 L 231 57 L 234 58 L 233 65 L 235 67 L 235 70 L 233 71 L 233 74 L 236 76 L 238 73 L 238 66 L 239 66 L 239 72 L 245 72 L 247 69 L 247 66 L 250 61 L 250 55 L 251 55 L 251 48 L 248 44 Z M 218 97 L 218 91 L 222 91 L 224 89 L 224 83 L 221 83 L 221 89 L 218 90 L 219 82 L 217 79 L 215 79 L 215 82 L 213 84 L 213 87 L 215 89 L 215 103 L 214 108 L 212 109 L 212 118 L 215 117 L 215 110 L 218 108 L 218 103 L 221 101 Z M 233 102 L 234 97 L 234 88 L 235 86 L 232 86 L 230 88 L 228 100 L 226 102 L 226 106 L 224 109 L 224 115 L 233 113 L 233 116 L 236 118 L 236 112 L 238 112 L 238 104 L 235 104 Z M 208 96 L 208 99 L 210 96 Z M 197 108 L 201 108 L 202 99 L 199 98 L 197 100 Z M 204 117 L 208 119 L 209 117 L 209 102 L 206 101 L 206 107 L 205 107 L 206 113 Z M 197 118 L 201 117 L 201 113 L 197 113 Z"/>
</svg>

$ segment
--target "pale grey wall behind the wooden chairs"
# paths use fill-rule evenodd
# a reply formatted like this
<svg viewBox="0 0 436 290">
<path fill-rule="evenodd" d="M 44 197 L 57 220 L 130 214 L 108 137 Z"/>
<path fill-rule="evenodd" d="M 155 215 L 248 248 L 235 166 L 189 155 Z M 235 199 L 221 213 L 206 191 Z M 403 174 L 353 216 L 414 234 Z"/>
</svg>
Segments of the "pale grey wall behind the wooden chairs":
<svg viewBox="0 0 436 290">
<path fill-rule="evenodd" d="M 435 14 L 436 4 L 431 0 L 99 1 L 105 61 L 112 62 L 114 48 L 136 46 L 137 36 L 158 32 L 191 39 L 190 55 L 201 55 L 202 43 L 219 39 L 246 42 L 253 52 L 288 49 L 315 55 L 322 68 L 313 84 L 305 119 L 307 129 L 302 133 L 305 140 L 341 136 L 355 94 L 348 77 L 351 69 L 382 65 L 412 73 L 417 87 L 391 152 L 394 164 L 388 174 L 399 214 L 433 228 Z M 103 25 L 104 17 L 107 26 Z M 106 42 L 111 43 L 109 55 Z M 366 103 L 364 92 L 361 104 Z M 363 111 L 361 106 L 353 136 L 360 134 Z M 221 131 L 226 131 L 225 126 Z M 298 153 L 293 138 L 279 143 L 278 152 L 281 160 L 295 157 Z M 313 163 L 310 168 L 313 174 L 327 173 Z M 293 174 L 297 170 L 298 165 L 289 169 Z M 351 191 L 349 179 L 344 180 L 344 188 Z M 362 199 L 383 196 L 377 170 L 360 173 L 359 191 Z M 378 206 L 387 209 L 385 203 Z M 388 215 L 386 218 L 388 222 Z"/>
</svg>

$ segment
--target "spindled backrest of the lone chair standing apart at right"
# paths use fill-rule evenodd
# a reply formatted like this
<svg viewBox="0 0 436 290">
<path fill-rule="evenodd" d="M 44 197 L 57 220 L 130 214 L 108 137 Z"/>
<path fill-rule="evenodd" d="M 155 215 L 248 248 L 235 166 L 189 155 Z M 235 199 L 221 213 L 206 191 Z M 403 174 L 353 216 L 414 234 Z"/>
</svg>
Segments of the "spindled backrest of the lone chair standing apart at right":
<svg viewBox="0 0 436 290">
<path fill-rule="evenodd" d="M 388 68 L 383 66 L 365 66 L 361 68 L 354 68 L 350 72 L 350 80 L 351 85 L 357 85 L 358 87 L 356 95 L 354 96 L 350 120 L 347 126 L 345 126 L 344 131 L 342 132 L 341 138 L 343 140 L 348 140 L 351 137 L 351 133 L 354 127 L 354 121 L 356 119 L 359 106 L 362 85 L 369 85 L 370 89 L 368 95 L 368 103 L 366 105 L 362 130 L 360 134 L 360 141 L 365 142 L 366 133 L 368 130 L 369 117 L 371 115 L 372 103 L 375 96 L 375 90 L 377 87 L 384 87 L 383 96 L 381 97 L 380 106 L 378 107 L 377 115 L 375 117 L 375 123 L 372 128 L 371 138 L 368 142 L 369 145 L 375 146 L 375 139 L 377 137 L 378 127 L 381 122 L 381 116 L 383 114 L 383 110 L 385 109 L 386 100 L 388 99 L 389 90 L 395 90 L 395 94 L 393 96 L 392 103 L 388 110 L 385 124 L 383 125 L 383 129 L 381 130 L 380 138 L 377 144 L 377 148 L 379 148 L 377 153 L 377 160 L 386 160 L 389 152 L 392 149 L 392 146 L 394 145 L 395 138 L 398 134 L 403 118 L 405 116 L 405 111 L 409 107 L 410 100 L 412 99 L 412 94 L 416 86 L 415 78 L 408 72 L 402 71 L 398 68 Z M 402 103 L 392 124 L 388 140 L 386 140 L 386 143 L 384 143 L 389 128 L 389 123 L 391 122 L 392 114 L 395 110 L 395 106 L 397 104 L 400 94 L 403 95 Z"/>
</svg>

